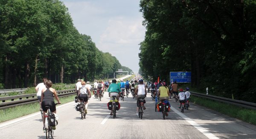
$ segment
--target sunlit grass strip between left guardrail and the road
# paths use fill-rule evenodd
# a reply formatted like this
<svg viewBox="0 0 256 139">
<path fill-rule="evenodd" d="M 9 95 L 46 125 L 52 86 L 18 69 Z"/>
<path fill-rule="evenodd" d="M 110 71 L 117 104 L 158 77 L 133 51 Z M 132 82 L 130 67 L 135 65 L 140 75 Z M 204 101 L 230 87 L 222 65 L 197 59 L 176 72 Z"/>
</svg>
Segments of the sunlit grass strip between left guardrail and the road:
<svg viewBox="0 0 256 139">
<path fill-rule="evenodd" d="M 74 101 L 75 96 L 76 95 L 61 97 L 60 98 L 61 104 Z M 6 122 L 21 116 L 25 116 L 31 113 L 38 112 L 39 109 L 40 109 L 40 105 L 38 103 L 32 103 L 28 105 L 17 106 L 13 108 L 0 110 L 0 123 Z"/>
</svg>

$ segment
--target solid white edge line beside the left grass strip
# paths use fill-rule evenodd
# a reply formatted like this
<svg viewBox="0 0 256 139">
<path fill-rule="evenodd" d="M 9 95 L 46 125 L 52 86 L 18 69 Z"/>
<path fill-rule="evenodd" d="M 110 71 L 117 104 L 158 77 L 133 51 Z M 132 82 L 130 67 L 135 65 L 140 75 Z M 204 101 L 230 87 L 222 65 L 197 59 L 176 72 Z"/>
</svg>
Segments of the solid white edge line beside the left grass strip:
<svg viewBox="0 0 256 139">
<path fill-rule="evenodd" d="M 56 108 L 61 108 L 61 107 L 70 105 L 72 103 L 74 103 L 74 102 L 72 101 L 72 102 L 68 102 L 68 103 L 65 103 L 65 104 L 61 104 L 61 105 L 58 105 Z M 20 117 L 20 118 L 17 118 L 17 119 L 13 119 L 11 121 L 3 122 L 2 124 L 0 124 L 0 128 L 3 128 L 4 126 L 11 125 L 11 124 L 14 124 L 16 122 L 20 122 L 22 120 L 25 120 L 25 119 L 28 119 L 28 118 L 31 118 L 31 117 L 34 117 L 34 116 L 37 116 L 37 115 L 40 115 L 40 114 L 41 114 L 41 112 L 36 112 L 36 113 L 29 114 L 28 116 L 23 116 L 23 117 Z"/>
</svg>

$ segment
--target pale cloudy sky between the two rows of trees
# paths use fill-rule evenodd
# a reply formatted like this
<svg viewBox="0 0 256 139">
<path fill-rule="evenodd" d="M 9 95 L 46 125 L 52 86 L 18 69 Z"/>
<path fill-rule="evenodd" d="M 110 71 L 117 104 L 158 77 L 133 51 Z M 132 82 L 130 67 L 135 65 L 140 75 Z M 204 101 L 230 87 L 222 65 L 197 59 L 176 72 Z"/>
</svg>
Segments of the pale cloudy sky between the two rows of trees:
<svg viewBox="0 0 256 139">
<path fill-rule="evenodd" d="M 120 64 L 139 71 L 140 42 L 145 37 L 140 0 L 61 0 L 81 34 Z"/>
</svg>

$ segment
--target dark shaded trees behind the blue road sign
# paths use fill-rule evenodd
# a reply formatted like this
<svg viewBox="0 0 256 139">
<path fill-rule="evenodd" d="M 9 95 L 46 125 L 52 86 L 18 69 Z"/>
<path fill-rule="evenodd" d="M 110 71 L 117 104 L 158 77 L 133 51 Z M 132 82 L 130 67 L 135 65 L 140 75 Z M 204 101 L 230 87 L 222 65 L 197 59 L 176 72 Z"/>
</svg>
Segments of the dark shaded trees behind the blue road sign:
<svg viewBox="0 0 256 139">
<path fill-rule="evenodd" d="M 140 70 L 191 71 L 194 88 L 256 102 L 256 0 L 141 0 Z"/>
</svg>

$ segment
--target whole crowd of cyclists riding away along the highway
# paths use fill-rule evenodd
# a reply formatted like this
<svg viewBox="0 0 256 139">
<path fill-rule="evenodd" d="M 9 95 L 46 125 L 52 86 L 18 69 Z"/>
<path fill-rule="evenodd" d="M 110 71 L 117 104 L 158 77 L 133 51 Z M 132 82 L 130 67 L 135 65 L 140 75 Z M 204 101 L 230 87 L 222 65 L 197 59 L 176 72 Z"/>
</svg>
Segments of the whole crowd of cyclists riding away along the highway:
<svg viewBox="0 0 256 139">
<path fill-rule="evenodd" d="M 121 80 L 121 82 L 118 82 L 118 83 L 116 82 L 117 82 L 116 79 L 113 79 L 112 82 L 96 81 L 93 83 L 93 88 L 97 88 L 102 92 L 104 92 L 104 89 L 105 89 L 105 91 L 108 91 L 108 96 L 110 97 L 110 100 L 113 99 L 112 96 L 116 96 L 117 101 L 119 101 L 119 96 L 121 93 L 123 93 L 122 95 L 125 96 L 124 90 L 126 90 L 127 92 L 131 90 L 131 94 L 137 95 L 136 115 L 138 115 L 138 109 L 140 104 L 139 99 L 145 100 L 145 97 L 147 93 L 149 93 L 149 91 L 151 92 L 151 95 L 158 96 L 160 102 L 163 102 L 164 100 L 169 101 L 169 98 L 171 98 L 171 93 L 176 94 L 177 97 L 179 98 L 180 105 L 181 103 L 185 102 L 186 99 L 189 99 L 191 95 L 189 92 L 189 88 L 186 88 L 186 92 L 184 92 L 183 89 L 180 88 L 179 90 L 180 93 L 178 94 L 178 85 L 176 81 L 172 82 L 169 86 L 164 80 L 163 81 L 160 80 L 159 82 L 157 81 L 148 82 L 147 86 L 143 82 L 143 79 L 139 79 L 139 82 L 137 82 L 137 80 L 135 80 L 134 82 L 133 81 L 128 82 L 128 80 L 126 80 L 126 82 L 124 82 L 123 80 Z M 85 113 L 87 113 L 88 98 L 91 97 L 90 89 L 92 88 L 92 86 L 89 83 L 90 82 L 84 82 L 83 79 L 78 79 L 76 82 L 77 96 L 80 101 L 83 101 L 86 104 Z M 55 103 L 52 96 L 55 97 L 58 103 L 61 103 L 55 89 L 51 88 L 51 86 L 52 86 L 52 82 L 47 78 L 44 78 L 43 82 L 38 84 L 35 88 L 36 91 L 38 92 L 37 97 L 41 104 L 43 114 L 45 114 L 47 111 L 47 109 L 45 108 L 46 106 L 50 107 L 50 111 L 52 111 L 53 113 L 56 113 L 56 107 L 55 107 Z M 95 92 L 96 90 L 93 91 L 93 94 L 96 93 Z M 143 107 L 143 109 L 146 109 L 145 106 Z M 110 115 L 113 115 L 112 110 Z M 166 113 L 166 116 L 168 116 L 168 113 Z"/>
</svg>

